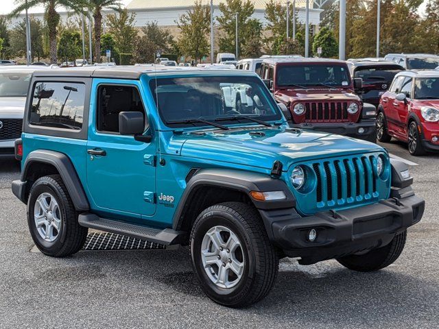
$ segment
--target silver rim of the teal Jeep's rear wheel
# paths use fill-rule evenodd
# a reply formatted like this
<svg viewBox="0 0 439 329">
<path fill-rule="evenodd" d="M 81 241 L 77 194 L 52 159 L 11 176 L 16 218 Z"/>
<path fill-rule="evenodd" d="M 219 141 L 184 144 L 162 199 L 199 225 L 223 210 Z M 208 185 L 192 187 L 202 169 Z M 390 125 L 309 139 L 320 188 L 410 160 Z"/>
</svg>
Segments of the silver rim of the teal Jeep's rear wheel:
<svg viewBox="0 0 439 329">
<path fill-rule="evenodd" d="M 47 242 L 54 242 L 61 230 L 61 211 L 58 202 L 50 193 L 41 193 L 34 207 L 36 230 Z"/>
</svg>

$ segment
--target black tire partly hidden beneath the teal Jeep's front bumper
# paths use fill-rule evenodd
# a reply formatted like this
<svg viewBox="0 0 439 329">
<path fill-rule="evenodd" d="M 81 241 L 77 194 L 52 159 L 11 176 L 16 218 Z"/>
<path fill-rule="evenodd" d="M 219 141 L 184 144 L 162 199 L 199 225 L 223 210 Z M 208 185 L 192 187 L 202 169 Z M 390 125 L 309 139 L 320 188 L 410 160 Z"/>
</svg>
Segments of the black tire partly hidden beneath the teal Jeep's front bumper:
<svg viewBox="0 0 439 329">
<path fill-rule="evenodd" d="M 344 267 L 354 271 L 369 272 L 388 267 L 398 259 L 405 246 L 407 231 L 396 235 L 384 247 L 373 249 L 364 255 L 350 255 L 338 258 L 337 261 Z"/>
</svg>

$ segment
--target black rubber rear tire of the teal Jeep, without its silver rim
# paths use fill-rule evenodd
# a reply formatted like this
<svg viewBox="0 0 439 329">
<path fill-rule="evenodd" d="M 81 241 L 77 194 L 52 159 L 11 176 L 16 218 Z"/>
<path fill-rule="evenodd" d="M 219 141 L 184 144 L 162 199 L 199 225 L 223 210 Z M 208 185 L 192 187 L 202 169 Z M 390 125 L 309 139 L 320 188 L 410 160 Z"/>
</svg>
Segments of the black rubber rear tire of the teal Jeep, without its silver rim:
<svg viewBox="0 0 439 329">
<path fill-rule="evenodd" d="M 53 196 L 58 204 L 60 230 L 54 241 L 46 241 L 38 232 L 34 218 L 36 200 L 43 193 Z M 43 254 L 52 257 L 64 257 L 80 251 L 86 241 L 88 228 L 78 223 L 79 213 L 75 210 L 67 188 L 60 175 L 48 175 L 38 178 L 27 200 L 27 224 L 34 243 Z M 47 226 L 46 226 L 47 230 Z M 53 229 L 52 229 L 53 230 Z"/>
</svg>

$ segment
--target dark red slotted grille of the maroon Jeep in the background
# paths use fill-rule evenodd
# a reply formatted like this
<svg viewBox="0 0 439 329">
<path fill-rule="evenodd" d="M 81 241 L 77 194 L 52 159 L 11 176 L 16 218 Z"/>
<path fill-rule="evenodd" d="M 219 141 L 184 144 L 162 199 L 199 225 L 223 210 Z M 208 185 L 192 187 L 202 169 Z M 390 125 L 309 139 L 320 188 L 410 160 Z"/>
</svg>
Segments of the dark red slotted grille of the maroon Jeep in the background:
<svg viewBox="0 0 439 329">
<path fill-rule="evenodd" d="M 349 121 L 347 101 L 308 101 L 305 108 L 305 122 Z"/>
</svg>

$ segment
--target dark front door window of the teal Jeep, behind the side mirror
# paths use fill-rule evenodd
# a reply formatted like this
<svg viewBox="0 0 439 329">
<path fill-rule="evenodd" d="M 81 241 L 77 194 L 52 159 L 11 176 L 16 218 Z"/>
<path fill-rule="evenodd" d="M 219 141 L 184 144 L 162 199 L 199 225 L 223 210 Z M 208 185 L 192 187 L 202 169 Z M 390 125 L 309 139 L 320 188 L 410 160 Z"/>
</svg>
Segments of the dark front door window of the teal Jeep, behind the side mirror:
<svg viewBox="0 0 439 329">
<path fill-rule="evenodd" d="M 97 89 L 97 130 L 119 133 L 120 112 L 142 112 L 145 108 L 139 90 L 134 86 L 101 85 Z"/>
</svg>

